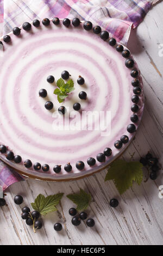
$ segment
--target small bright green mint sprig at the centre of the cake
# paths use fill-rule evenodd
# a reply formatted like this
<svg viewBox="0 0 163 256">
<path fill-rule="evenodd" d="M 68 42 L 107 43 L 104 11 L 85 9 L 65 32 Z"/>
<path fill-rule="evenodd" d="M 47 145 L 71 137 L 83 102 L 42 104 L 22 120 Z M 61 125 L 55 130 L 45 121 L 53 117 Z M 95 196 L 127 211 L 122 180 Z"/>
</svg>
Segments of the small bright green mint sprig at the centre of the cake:
<svg viewBox="0 0 163 256">
<path fill-rule="evenodd" d="M 75 88 L 74 88 L 74 82 L 72 79 L 68 80 L 66 83 L 62 78 L 59 78 L 57 81 L 57 86 L 54 90 L 54 94 L 57 95 L 57 99 L 60 102 L 63 102 L 65 98 L 68 96 L 68 93 L 71 93 Z"/>
</svg>

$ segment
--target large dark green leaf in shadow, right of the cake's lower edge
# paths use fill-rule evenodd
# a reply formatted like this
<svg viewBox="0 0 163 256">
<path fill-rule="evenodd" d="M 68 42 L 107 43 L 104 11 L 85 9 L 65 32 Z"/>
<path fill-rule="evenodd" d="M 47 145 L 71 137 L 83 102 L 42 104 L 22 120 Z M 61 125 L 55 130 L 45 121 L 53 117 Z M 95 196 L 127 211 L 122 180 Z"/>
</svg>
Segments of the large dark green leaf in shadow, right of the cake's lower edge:
<svg viewBox="0 0 163 256">
<path fill-rule="evenodd" d="M 106 180 L 114 180 L 117 190 L 120 194 L 124 193 L 128 188 L 133 186 L 133 181 L 141 184 L 143 178 L 142 163 L 126 162 L 123 160 L 114 161 L 105 176 Z"/>
</svg>

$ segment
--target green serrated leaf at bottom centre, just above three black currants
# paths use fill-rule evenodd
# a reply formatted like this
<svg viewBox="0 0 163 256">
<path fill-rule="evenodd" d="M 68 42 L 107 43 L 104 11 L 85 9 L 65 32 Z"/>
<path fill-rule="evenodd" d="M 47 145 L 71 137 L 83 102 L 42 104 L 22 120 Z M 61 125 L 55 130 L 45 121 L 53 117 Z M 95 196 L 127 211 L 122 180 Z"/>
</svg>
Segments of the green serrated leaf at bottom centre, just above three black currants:
<svg viewBox="0 0 163 256">
<path fill-rule="evenodd" d="M 77 210 L 85 210 L 91 201 L 91 194 L 86 193 L 82 188 L 76 194 L 68 194 L 67 197 L 77 205 Z"/>
</svg>

